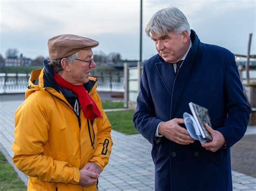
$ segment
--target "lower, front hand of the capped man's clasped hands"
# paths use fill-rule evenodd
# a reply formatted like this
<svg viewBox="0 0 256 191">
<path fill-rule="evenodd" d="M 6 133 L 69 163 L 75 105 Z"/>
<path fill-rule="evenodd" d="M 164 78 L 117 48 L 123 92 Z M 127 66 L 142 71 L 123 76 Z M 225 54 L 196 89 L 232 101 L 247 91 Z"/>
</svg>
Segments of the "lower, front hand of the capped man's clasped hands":
<svg viewBox="0 0 256 191">
<path fill-rule="evenodd" d="M 98 178 L 99 178 L 99 174 L 81 169 L 79 185 L 84 187 L 89 187 L 95 184 Z"/>
</svg>

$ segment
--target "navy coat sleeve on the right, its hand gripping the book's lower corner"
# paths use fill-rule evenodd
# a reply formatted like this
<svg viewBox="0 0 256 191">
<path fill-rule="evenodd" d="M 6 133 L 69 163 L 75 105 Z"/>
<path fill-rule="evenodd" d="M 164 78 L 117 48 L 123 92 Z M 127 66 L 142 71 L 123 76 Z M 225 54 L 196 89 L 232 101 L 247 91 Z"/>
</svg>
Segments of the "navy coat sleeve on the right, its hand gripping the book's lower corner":
<svg viewBox="0 0 256 191">
<path fill-rule="evenodd" d="M 227 148 L 230 148 L 244 136 L 251 108 L 247 103 L 233 54 L 229 56 L 225 69 L 224 96 L 227 118 L 224 126 L 217 130 L 223 134 Z"/>
</svg>

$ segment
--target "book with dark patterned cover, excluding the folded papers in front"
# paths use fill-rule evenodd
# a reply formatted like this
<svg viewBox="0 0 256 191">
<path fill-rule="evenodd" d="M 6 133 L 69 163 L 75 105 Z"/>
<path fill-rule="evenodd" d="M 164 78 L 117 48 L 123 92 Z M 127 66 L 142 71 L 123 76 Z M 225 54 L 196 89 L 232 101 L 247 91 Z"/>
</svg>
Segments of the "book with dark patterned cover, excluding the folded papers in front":
<svg viewBox="0 0 256 191">
<path fill-rule="evenodd" d="M 206 123 L 212 127 L 208 109 L 201 107 L 200 105 L 193 102 L 188 103 L 188 105 L 190 106 L 192 115 L 198 125 L 201 136 L 205 140 L 212 140 L 211 134 L 205 128 Z"/>
</svg>

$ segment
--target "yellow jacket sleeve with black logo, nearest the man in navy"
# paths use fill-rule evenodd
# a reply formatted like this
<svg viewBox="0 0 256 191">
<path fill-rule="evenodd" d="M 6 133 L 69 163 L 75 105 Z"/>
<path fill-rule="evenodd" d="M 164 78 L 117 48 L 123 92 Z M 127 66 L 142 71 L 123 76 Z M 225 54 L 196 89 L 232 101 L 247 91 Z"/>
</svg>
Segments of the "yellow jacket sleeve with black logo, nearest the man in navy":
<svg viewBox="0 0 256 191">
<path fill-rule="evenodd" d="M 109 162 L 109 157 L 111 153 L 111 148 L 113 145 L 112 139 L 111 139 L 111 129 L 112 126 L 109 122 L 109 119 L 107 119 L 107 116 L 102 108 L 102 103 L 100 101 L 99 95 L 97 92 L 95 92 L 92 95 L 93 100 L 97 104 L 100 112 L 102 113 L 103 118 L 96 118 L 95 123 L 97 125 L 97 147 L 95 152 L 93 153 L 92 158 L 90 159 L 90 162 L 95 162 L 103 171 L 103 168 L 107 165 Z"/>
</svg>

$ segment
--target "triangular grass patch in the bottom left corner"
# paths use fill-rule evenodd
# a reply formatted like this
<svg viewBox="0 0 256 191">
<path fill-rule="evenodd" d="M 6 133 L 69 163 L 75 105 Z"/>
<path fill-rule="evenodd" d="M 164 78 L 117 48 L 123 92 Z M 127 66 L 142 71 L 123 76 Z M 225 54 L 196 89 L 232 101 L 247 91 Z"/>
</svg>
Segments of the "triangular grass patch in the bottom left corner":
<svg viewBox="0 0 256 191">
<path fill-rule="evenodd" d="M 18 178 L 14 168 L 0 152 L 0 190 L 26 190 L 26 185 Z"/>
</svg>

